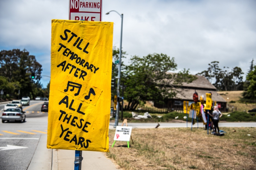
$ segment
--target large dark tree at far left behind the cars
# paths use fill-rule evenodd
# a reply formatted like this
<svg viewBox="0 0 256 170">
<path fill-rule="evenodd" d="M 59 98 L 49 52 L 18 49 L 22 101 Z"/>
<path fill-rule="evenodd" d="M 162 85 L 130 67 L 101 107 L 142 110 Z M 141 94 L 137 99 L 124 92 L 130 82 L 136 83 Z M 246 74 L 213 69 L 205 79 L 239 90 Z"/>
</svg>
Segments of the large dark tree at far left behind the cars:
<svg viewBox="0 0 256 170">
<path fill-rule="evenodd" d="M 31 73 L 41 74 L 42 65 L 36 61 L 34 55 L 29 55 L 29 52 L 24 49 L 2 50 L 0 52 L 0 76 L 7 78 L 8 82 L 14 83 L 16 91 L 13 92 L 17 96 L 20 90 L 21 96 L 30 96 L 33 94 L 32 88 L 37 88 L 40 84 L 40 76 L 31 79 Z M 19 84 L 17 84 L 19 82 Z M 33 86 L 37 84 L 37 86 Z M 36 96 L 36 94 L 33 94 Z"/>
</svg>

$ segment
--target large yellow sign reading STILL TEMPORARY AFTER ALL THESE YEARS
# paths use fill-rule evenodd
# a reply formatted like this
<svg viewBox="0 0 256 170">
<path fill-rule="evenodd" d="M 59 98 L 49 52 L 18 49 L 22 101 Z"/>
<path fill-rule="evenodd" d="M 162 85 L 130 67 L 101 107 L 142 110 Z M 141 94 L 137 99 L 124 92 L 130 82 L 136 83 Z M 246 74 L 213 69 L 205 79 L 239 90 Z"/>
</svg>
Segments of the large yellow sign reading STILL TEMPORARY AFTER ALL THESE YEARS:
<svg viewBox="0 0 256 170">
<path fill-rule="evenodd" d="M 113 23 L 52 20 L 47 148 L 109 152 Z"/>
</svg>

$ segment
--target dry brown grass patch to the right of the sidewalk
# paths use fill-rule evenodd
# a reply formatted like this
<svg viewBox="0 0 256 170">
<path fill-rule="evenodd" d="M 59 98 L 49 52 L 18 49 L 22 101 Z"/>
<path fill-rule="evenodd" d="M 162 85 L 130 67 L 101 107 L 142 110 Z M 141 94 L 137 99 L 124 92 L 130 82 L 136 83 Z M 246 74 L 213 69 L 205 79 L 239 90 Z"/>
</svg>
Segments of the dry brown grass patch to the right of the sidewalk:
<svg viewBox="0 0 256 170">
<path fill-rule="evenodd" d="M 256 169 L 256 128 L 220 130 L 225 136 L 202 128 L 132 129 L 130 148 L 123 141 L 111 148 L 115 131 L 109 130 L 106 154 L 123 170 Z"/>
</svg>

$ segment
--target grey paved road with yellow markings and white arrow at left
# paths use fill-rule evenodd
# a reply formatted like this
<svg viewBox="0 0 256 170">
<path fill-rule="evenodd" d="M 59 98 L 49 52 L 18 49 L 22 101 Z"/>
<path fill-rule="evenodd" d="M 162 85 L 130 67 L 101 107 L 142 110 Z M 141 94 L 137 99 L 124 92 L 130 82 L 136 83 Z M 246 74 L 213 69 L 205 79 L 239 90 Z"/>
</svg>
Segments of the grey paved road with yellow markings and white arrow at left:
<svg viewBox="0 0 256 170">
<path fill-rule="evenodd" d="M 47 137 L 47 112 L 41 112 L 43 101 L 31 101 L 30 106 L 23 106 L 26 122 L 8 122 L 0 124 L 0 169 L 27 169 L 36 151 L 38 142 Z M 0 104 L 4 108 L 5 104 Z M 0 112 L 2 115 L 3 111 Z M 4 150 L 7 145 L 25 148 Z M 45 144 L 46 145 L 46 144 Z M 5 148 L 4 148 L 5 147 Z M 51 159 L 51 158 L 50 158 Z M 51 162 L 51 160 L 49 160 Z"/>
</svg>

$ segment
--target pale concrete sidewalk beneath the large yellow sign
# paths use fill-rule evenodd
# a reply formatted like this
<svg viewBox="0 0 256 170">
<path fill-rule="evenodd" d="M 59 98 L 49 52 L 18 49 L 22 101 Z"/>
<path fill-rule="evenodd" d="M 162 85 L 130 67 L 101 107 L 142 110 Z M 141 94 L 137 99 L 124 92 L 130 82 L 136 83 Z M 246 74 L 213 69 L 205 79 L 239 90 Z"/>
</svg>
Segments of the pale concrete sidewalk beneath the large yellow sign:
<svg viewBox="0 0 256 170">
<path fill-rule="evenodd" d="M 72 170 L 74 169 L 75 151 L 47 149 L 47 135 L 42 135 L 28 170 Z M 118 170 L 115 164 L 107 159 L 104 152 L 83 151 L 81 170 Z"/>
</svg>

